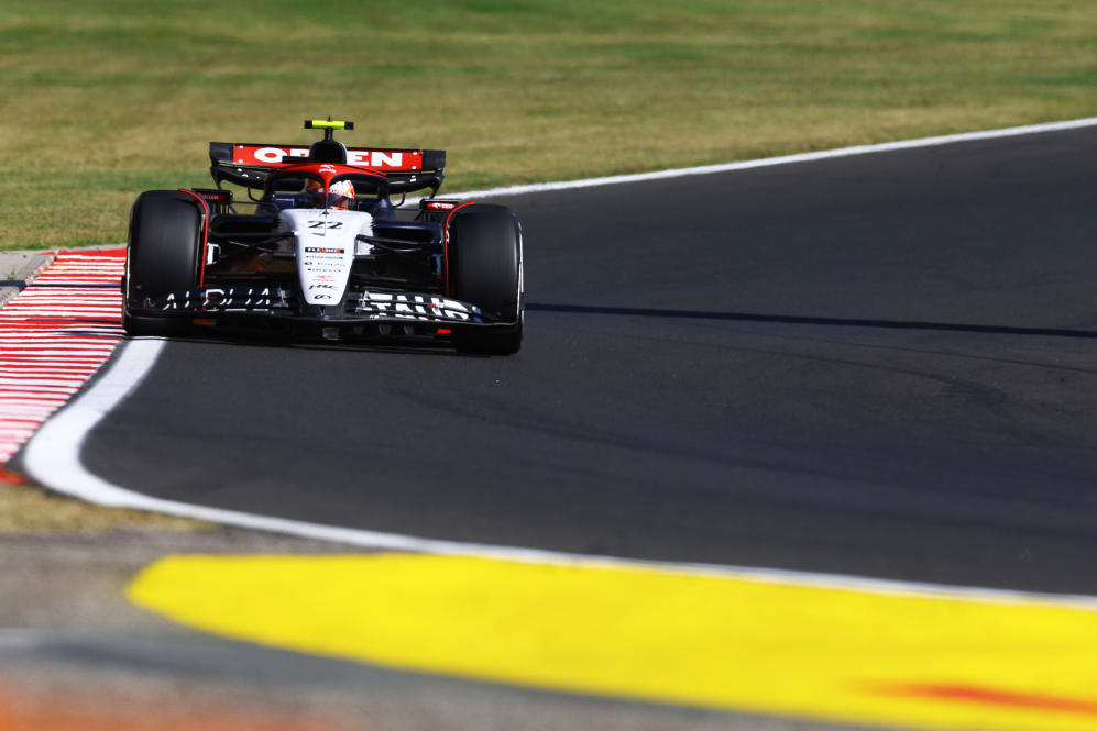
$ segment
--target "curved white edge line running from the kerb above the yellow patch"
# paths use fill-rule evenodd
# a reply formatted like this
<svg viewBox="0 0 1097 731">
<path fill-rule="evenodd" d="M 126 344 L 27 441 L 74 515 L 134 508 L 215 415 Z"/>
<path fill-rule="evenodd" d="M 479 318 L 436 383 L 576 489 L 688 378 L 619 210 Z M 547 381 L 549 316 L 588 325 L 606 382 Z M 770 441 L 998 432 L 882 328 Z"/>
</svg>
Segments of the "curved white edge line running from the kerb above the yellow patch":
<svg viewBox="0 0 1097 731">
<path fill-rule="evenodd" d="M 80 461 L 87 435 L 97 423 L 131 394 L 150 372 L 165 341 L 128 341 L 109 369 L 78 398 L 46 421 L 23 451 L 23 464 L 35 480 L 89 502 L 112 508 L 130 508 L 182 518 L 209 521 L 252 530 L 282 533 L 303 539 L 342 543 L 361 549 L 406 551 L 446 556 L 473 556 L 522 563 L 582 565 L 612 568 L 652 568 L 665 572 L 738 578 L 768 584 L 810 586 L 827 589 L 930 598 L 963 597 L 996 603 L 1069 605 L 1097 611 L 1097 597 L 1016 591 L 1009 589 L 956 587 L 921 582 L 874 579 L 862 576 L 792 569 L 724 566 L 704 563 L 646 561 L 616 556 L 584 555 L 540 549 L 462 543 L 417 538 L 399 533 L 325 525 L 285 518 L 257 516 L 235 510 L 155 498 L 119 487 L 91 474 Z"/>
</svg>

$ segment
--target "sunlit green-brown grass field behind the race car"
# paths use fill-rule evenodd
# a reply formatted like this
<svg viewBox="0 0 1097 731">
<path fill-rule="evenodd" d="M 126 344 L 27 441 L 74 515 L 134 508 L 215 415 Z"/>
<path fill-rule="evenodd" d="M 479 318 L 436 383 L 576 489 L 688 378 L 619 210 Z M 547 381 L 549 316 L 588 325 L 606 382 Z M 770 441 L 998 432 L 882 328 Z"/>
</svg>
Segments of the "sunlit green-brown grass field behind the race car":
<svg viewBox="0 0 1097 731">
<path fill-rule="evenodd" d="M 0 248 L 109 243 L 307 117 L 445 191 L 1097 114 L 1097 3 L 0 0 Z"/>
</svg>

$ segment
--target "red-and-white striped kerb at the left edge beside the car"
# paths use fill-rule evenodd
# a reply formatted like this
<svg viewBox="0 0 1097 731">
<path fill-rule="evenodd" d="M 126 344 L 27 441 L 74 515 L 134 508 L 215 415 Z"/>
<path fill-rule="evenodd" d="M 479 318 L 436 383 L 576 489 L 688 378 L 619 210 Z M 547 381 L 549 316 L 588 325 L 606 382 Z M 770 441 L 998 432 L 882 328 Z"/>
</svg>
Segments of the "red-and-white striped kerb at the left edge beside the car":
<svg viewBox="0 0 1097 731">
<path fill-rule="evenodd" d="M 122 340 L 122 248 L 63 252 L 0 309 L 0 465 Z"/>
</svg>

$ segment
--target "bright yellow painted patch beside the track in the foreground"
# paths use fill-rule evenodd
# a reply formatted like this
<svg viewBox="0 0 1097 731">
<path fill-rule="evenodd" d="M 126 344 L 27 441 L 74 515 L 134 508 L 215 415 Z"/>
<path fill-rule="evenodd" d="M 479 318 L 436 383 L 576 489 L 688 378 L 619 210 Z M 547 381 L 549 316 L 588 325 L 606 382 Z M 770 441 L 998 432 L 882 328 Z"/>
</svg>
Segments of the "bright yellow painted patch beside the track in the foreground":
<svg viewBox="0 0 1097 731">
<path fill-rule="evenodd" d="M 395 668 L 855 723 L 1097 729 L 1097 611 L 641 564 L 172 556 L 141 607 Z"/>
</svg>

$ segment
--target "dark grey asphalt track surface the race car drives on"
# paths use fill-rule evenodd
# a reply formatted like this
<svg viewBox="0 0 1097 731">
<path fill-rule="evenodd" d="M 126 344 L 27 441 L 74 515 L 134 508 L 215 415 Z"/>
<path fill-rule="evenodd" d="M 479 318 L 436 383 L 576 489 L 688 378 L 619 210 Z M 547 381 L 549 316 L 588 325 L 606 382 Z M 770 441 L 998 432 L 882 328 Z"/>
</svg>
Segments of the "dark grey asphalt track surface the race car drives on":
<svg viewBox="0 0 1097 731">
<path fill-rule="evenodd" d="M 1097 592 L 1097 131 L 516 196 L 516 357 L 171 342 L 91 433 L 204 506 Z"/>
</svg>

